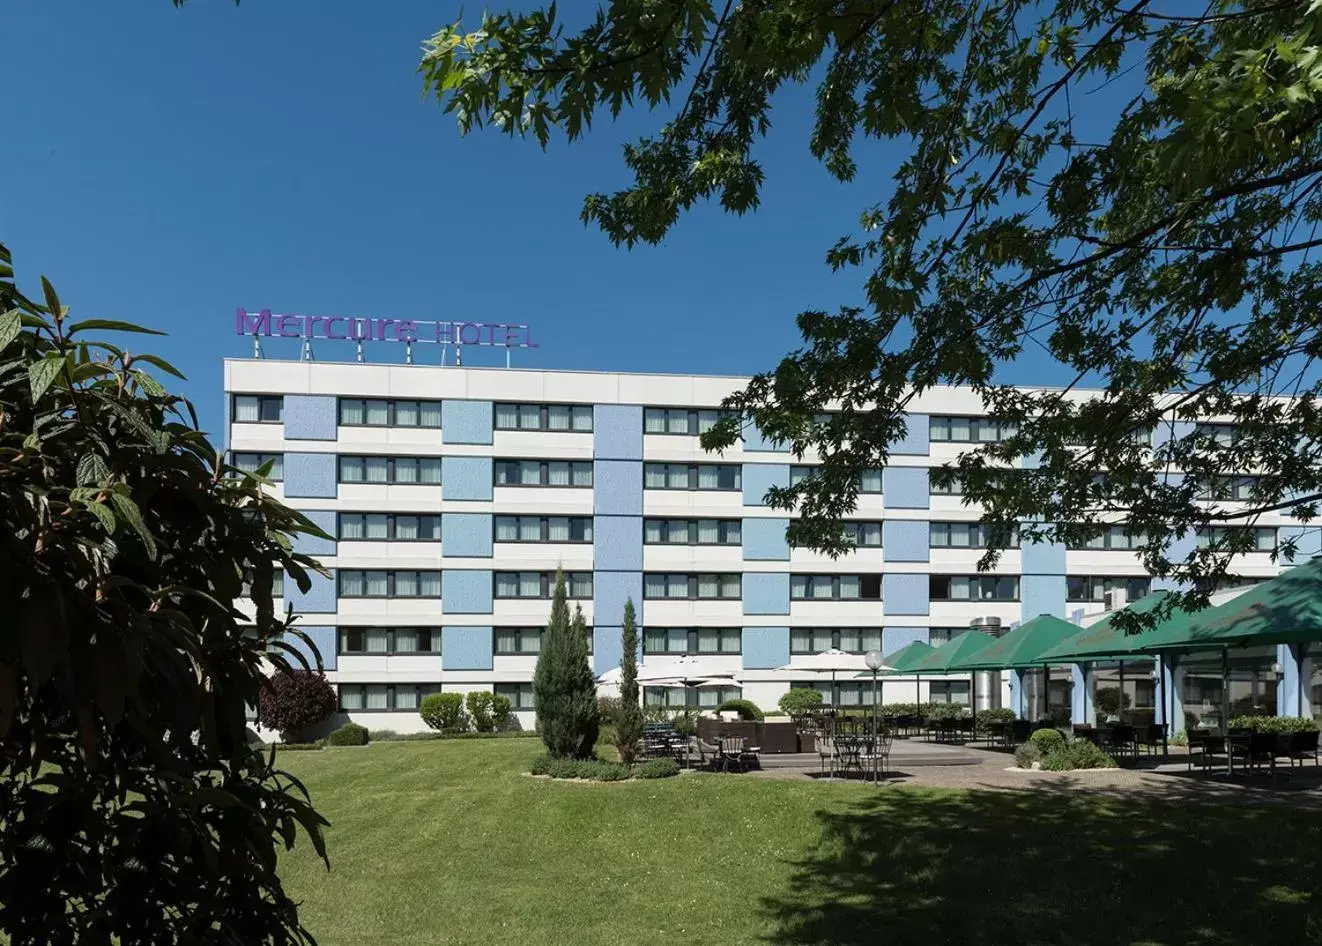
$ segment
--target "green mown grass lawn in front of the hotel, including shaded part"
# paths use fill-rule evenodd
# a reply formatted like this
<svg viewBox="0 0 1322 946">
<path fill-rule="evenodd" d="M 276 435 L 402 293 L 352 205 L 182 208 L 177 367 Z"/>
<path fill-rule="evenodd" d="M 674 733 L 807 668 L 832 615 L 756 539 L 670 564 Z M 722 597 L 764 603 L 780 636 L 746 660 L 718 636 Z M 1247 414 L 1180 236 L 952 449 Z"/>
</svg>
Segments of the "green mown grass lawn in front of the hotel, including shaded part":
<svg viewBox="0 0 1322 946">
<path fill-rule="evenodd" d="M 325 946 L 1309 942 L 1315 813 L 683 776 L 520 774 L 534 740 L 287 753 Z M 1318 937 L 1318 928 L 1311 929 Z"/>
</svg>

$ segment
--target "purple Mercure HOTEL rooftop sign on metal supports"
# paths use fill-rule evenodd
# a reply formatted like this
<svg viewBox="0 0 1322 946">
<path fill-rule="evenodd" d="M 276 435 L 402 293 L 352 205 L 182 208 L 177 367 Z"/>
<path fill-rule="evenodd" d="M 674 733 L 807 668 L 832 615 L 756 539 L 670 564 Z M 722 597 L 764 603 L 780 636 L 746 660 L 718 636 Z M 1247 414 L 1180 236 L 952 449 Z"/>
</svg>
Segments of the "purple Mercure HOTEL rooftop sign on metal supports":
<svg viewBox="0 0 1322 946">
<path fill-rule="evenodd" d="M 394 342 L 408 346 L 412 361 L 414 345 L 453 345 L 456 363 L 464 345 L 480 347 L 535 349 L 531 329 L 510 322 L 439 322 L 414 318 L 377 318 L 370 316 L 296 316 L 272 313 L 270 309 L 249 312 L 237 309 L 234 333 L 253 338 L 254 354 L 262 355 L 262 338 L 301 338 L 303 357 L 312 358 L 312 340 L 328 338 L 358 344 L 362 361 L 364 342 Z"/>
</svg>

